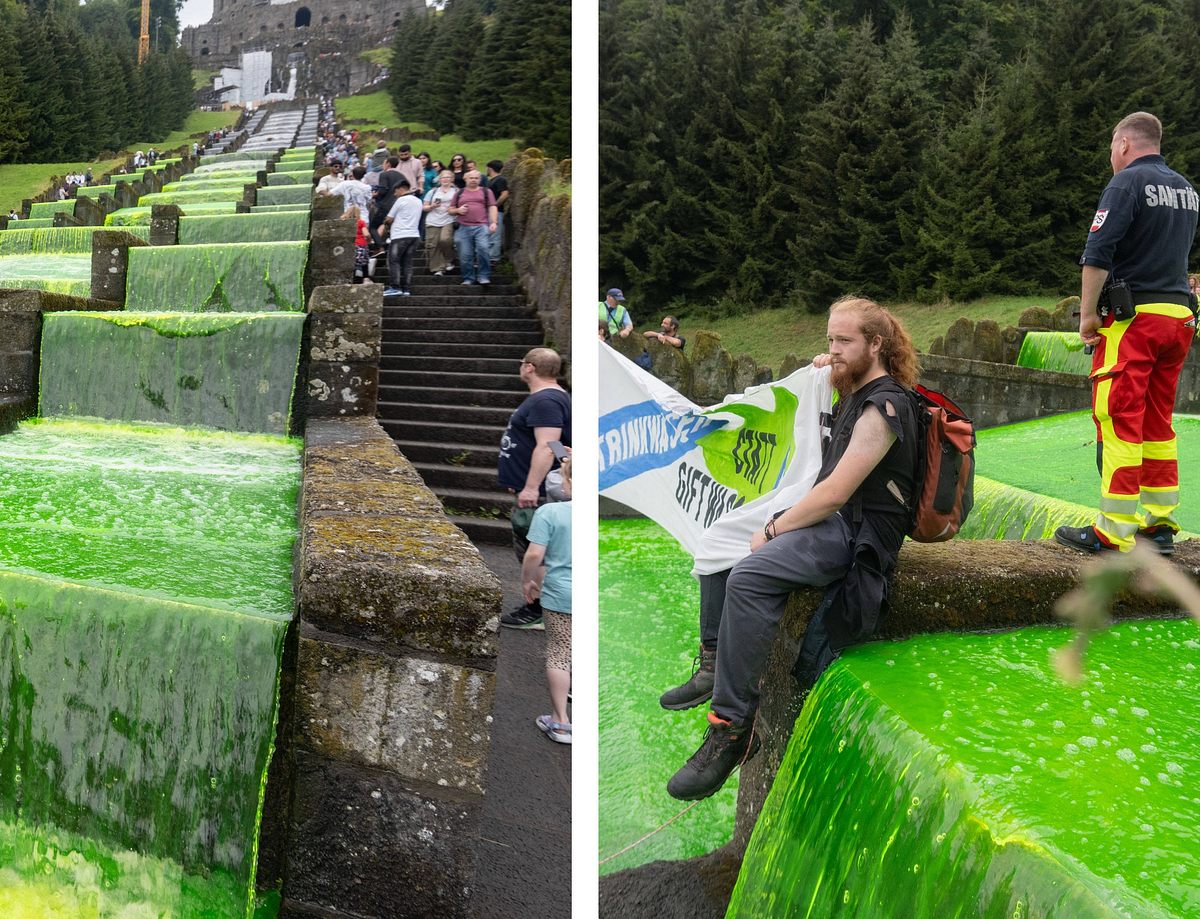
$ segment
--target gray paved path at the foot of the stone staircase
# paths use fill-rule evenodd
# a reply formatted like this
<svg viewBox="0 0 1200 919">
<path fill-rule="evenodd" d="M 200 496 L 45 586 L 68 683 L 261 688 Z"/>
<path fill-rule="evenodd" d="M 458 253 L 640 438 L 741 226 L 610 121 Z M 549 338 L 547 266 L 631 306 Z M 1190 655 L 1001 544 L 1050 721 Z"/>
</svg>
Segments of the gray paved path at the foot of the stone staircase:
<svg viewBox="0 0 1200 919">
<path fill-rule="evenodd" d="M 504 608 L 520 606 L 512 549 L 479 549 L 504 585 Z M 571 914 L 571 747 L 534 725 L 550 711 L 545 654 L 545 632 L 500 629 L 475 882 L 475 914 L 482 919 Z"/>
</svg>

